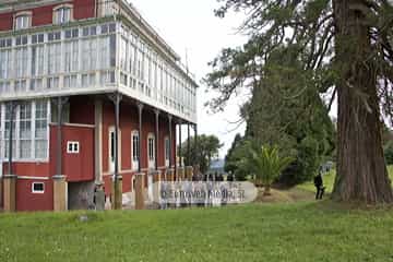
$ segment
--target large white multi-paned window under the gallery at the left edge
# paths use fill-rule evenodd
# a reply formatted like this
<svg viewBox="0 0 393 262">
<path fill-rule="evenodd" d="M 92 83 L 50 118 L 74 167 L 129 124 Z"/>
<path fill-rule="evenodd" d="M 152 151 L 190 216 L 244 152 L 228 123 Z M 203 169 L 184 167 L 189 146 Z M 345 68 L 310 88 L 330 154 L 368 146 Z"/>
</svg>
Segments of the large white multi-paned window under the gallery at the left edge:
<svg viewBox="0 0 393 262">
<path fill-rule="evenodd" d="M 0 104 L 0 158 L 9 157 L 12 123 L 12 158 L 14 160 L 47 159 L 49 136 L 49 100 Z"/>
</svg>

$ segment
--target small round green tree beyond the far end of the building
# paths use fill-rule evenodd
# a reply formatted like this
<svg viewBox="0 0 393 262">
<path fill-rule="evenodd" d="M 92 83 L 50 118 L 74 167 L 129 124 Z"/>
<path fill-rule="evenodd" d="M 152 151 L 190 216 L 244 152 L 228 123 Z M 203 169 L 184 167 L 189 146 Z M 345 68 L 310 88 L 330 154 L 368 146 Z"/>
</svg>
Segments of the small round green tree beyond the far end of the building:
<svg viewBox="0 0 393 262">
<path fill-rule="evenodd" d="M 181 155 L 184 157 L 186 165 L 198 164 L 202 174 L 206 174 L 212 159 L 218 156 L 218 150 L 223 146 L 219 139 L 215 135 L 198 135 L 190 138 L 190 158 L 188 158 L 188 140 L 181 144 Z"/>
</svg>

